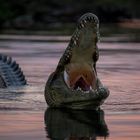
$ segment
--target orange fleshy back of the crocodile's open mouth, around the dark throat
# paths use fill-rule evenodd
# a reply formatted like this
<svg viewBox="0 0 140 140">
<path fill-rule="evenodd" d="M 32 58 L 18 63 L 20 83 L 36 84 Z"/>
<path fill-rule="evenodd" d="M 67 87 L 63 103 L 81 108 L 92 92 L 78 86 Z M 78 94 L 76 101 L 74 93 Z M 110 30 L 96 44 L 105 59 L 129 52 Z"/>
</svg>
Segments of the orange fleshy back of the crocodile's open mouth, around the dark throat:
<svg viewBox="0 0 140 140">
<path fill-rule="evenodd" d="M 64 81 L 71 90 L 79 90 L 83 93 L 89 93 L 96 90 L 95 71 L 74 70 L 70 73 L 64 71 Z"/>
</svg>

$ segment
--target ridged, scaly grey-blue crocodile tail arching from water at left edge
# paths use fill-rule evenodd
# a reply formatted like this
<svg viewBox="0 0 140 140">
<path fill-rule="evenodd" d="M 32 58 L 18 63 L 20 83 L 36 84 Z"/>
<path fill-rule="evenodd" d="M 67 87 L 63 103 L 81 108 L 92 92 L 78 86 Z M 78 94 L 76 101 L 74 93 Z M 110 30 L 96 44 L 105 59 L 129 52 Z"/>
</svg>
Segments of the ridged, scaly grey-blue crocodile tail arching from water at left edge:
<svg viewBox="0 0 140 140">
<path fill-rule="evenodd" d="M 25 76 L 16 61 L 9 56 L 0 54 L 0 88 L 26 84 Z"/>
</svg>

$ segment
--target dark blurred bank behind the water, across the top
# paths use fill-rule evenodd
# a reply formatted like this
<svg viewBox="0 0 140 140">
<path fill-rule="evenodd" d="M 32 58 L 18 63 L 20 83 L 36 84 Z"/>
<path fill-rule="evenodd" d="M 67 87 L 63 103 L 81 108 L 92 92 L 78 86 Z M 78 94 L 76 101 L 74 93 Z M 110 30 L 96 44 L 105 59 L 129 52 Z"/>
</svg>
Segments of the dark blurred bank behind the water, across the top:
<svg viewBox="0 0 140 140">
<path fill-rule="evenodd" d="M 42 30 L 70 34 L 77 19 L 86 12 L 99 17 L 103 32 L 116 25 L 125 27 L 119 23 L 139 30 L 139 0 L 0 0 L 0 31 Z M 126 32 L 131 32 L 128 28 Z"/>
</svg>

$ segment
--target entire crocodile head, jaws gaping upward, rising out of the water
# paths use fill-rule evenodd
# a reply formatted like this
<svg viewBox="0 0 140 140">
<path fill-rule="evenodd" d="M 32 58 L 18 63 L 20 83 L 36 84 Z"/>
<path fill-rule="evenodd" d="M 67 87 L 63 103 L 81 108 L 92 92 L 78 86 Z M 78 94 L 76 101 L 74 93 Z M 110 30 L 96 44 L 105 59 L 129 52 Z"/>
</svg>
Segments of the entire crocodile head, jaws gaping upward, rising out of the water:
<svg viewBox="0 0 140 140">
<path fill-rule="evenodd" d="M 45 99 L 50 107 L 98 110 L 109 96 L 97 76 L 99 39 L 98 17 L 84 14 L 46 83 Z"/>
</svg>

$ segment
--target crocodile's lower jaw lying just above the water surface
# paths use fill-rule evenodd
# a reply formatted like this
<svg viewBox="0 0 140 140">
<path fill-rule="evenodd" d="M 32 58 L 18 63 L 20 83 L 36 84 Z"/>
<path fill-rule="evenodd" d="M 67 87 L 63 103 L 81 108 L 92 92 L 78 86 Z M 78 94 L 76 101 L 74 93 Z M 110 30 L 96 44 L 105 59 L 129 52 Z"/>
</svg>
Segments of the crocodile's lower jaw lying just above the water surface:
<svg viewBox="0 0 140 140">
<path fill-rule="evenodd" d="M 102 87 L 99 89 L 98 93 L 71 94 L 67 97 L 67 99 L 69 99 L 61 103 L 59 107 L 76 110 L 98 110 L 108 96 L 108 90 Z"/>
</svg>

